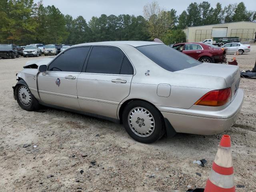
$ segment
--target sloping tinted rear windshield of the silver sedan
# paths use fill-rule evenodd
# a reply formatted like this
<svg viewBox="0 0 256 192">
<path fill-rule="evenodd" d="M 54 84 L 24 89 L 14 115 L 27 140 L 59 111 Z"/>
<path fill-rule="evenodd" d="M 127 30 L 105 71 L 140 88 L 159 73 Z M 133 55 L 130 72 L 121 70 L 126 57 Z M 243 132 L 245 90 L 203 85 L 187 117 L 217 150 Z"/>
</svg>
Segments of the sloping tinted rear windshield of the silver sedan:
<svg viewBox="0 0 256 192">
<path fill-rule="evenodd" d="M 137 49 L 162 68 L 174 72 L 202 64 L 198 60 L 166 45 L 147 45 Z"/>
</svg>

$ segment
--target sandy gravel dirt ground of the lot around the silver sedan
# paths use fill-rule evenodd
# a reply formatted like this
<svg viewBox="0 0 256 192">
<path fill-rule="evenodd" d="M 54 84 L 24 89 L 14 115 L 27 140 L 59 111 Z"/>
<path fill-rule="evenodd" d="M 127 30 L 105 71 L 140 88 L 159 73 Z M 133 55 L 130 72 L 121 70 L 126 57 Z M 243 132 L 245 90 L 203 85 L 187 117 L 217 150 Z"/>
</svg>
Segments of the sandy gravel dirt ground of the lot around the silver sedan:
<svg viewBox="0 0 256 192">
<path fill-rule="evenodd" d="M 256 46 L 236 58 L 241 70 L 252 70 Z M 12 86 L 15 74 L 33 59 L 0 60 L 1 192 L 204 188 L 222 134 L 232 139 L 236 192 L 256 191 L 256 79 L 241 79 L 244 104 L 229 130 L 212 136 L 176 134 L 141 144 L 120 124 L 52 108 L 22 110 L 13 99 Z M 25 144 L 31 146 L 24 148 Z M 205 167 L 193 164 L 203 158 L 208 161 Z"/>
</svg>

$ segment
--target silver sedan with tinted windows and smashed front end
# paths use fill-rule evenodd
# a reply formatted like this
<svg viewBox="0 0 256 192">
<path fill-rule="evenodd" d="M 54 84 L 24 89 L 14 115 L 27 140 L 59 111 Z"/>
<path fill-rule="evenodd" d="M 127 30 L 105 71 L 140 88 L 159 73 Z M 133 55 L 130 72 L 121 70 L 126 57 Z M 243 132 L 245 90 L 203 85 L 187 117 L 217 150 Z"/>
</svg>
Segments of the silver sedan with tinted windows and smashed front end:
<svg viewBox="0 0 256 192">
<path fill-rule="evenodd" d="M 216 134 L 234 124 L 244 92 L 238 66 L 201 63 L 157 42 L 97 42 L 27 62 L 14 98 L 124 124 L 139 142 Z"/>
</svg>

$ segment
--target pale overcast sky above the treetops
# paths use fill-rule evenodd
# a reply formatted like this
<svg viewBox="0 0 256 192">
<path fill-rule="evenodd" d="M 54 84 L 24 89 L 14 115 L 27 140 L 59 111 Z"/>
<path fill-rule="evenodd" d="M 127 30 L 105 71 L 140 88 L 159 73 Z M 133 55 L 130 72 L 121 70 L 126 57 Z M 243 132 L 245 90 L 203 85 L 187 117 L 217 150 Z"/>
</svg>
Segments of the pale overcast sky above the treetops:
<svg viewBox="0 0 256 192">
<path fill-rule="evenodd" d="M 39 0 L 34 0 L 38 2 Z M 191 2 L 197 2 L 198 4 L 203 0 L 157 0 L 160 7 L 166 10 L 175 9 L 177 15 L 183 10 L 186 10 Z M 256 0 L 205 0 L 208 1 L 211 6 L 216 5 L 217 2 L 222 4 L 222 7 L 228 4 L 234 4 L 244 2 L 248 10 L 255 11 Z M 73 18 L 77 16 L 83 16 L 88 22 L 92 16 L 99 17 L 101 14 L 114 14 L 116 16 L 120 14 L 130 15 L 142 15 L 143 6 L 152 0 L 43 0 L 44 6 L 54 5 L 64 15 L 70 14 Z"/>
</svg>

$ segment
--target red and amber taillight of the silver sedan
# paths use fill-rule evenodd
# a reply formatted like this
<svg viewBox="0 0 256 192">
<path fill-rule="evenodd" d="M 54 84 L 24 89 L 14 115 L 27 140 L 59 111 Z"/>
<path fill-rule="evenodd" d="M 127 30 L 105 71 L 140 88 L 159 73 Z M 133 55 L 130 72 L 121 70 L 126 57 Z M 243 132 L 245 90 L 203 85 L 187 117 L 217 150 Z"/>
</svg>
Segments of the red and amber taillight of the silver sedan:
<svg viewBox="0 0 256 192">
<path fill-rule="evenodd" d="M 202 96 L 194 105 L 222 106 L 231 99 L 231 88 L 213 90 Z"/>
</svg>

